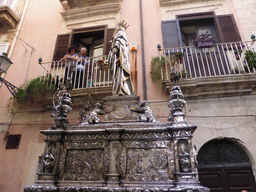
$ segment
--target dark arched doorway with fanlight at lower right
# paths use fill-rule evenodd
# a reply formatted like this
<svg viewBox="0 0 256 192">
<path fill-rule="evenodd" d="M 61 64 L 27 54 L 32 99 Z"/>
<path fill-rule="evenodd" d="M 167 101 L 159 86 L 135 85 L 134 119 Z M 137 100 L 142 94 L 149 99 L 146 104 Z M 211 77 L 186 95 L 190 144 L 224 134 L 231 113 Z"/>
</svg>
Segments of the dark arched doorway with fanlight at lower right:
<svg viewBox="0 0 256 192">
<path fill-rule="evenodd" d="M 211 192 L 255 192 L 252 164 L 231 139 L 213 139 L 198 151 L 199 180 Z"/>
</svg>

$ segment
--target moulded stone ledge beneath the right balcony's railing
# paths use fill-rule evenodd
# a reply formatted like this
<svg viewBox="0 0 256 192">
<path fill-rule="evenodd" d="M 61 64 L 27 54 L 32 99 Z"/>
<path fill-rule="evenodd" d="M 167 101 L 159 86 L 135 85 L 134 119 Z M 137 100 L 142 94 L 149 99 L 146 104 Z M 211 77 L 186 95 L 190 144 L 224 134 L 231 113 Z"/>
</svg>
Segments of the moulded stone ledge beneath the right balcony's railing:
<svg viewBox="0 0 256 192">
<path fill-rule="evenodd" d="M 169 94 L 174 85 L 179 86 L 186 99 L 216 98 L 255 94 L 256 75 L 254 73 L 229 76 L 188 78 L 177 81 L 163 81 L 162 86 Z"/>
</svg>

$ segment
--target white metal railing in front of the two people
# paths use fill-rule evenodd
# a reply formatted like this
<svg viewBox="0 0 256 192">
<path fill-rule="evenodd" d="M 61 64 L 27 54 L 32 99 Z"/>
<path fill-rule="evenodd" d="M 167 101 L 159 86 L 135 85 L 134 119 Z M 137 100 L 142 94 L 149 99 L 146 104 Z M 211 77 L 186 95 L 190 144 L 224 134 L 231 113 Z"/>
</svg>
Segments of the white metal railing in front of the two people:
<svg viewBox="0 0 256 192">
<path fill-rule="evenodd" d="M 51 77 L 52 84 L 70 79 L 73 89 L 107 87 L 112 85 L 107 56 L 82 60 L 52 61 L 39 63 L 38 77 Z"/>
</svg>

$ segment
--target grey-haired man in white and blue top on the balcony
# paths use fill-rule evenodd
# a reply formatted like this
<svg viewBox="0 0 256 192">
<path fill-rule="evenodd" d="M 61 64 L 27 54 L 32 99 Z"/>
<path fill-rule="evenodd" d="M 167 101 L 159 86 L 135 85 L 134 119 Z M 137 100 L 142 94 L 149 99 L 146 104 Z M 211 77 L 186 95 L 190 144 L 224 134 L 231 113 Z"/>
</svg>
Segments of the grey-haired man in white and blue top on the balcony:
<svg viewBox="0 0 256 192">
<path fill-rule="evenodd" d="M 82 88 L 84 73 L 86 73 L 85 65 L 88 63 L 88 57 L 86 56 L 86 54 L 87 49 L 85 47 L 82 47 L 81 55 L 79 56 L 74 76 L 76 79 L 75 88 Z"/>
</svg>

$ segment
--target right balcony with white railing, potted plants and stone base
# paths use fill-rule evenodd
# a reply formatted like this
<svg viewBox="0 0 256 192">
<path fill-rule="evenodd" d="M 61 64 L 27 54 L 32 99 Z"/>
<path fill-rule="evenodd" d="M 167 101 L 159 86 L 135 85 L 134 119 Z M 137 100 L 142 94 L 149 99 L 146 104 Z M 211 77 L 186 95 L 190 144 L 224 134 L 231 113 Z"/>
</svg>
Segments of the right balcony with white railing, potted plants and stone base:
<svg viewBox="0 0 256 192">
<path fill-rule="evenodd" d="M 180 47 L 163 50 L 162 86 L 169 94 L 179 85 L 187 99 L 252 94 L 256 86 L 256 63 L 246 59 L 253 42 L 218 43 L 210 48 Z M 253 51 L 254 52 L 254 51 Z M 176 60 L 175 55 L 183 55 Z M 171 79 L 175 70 L 179 80 Z M 174 77 L 174 76 L 173 76 Z"/>
</svg>

